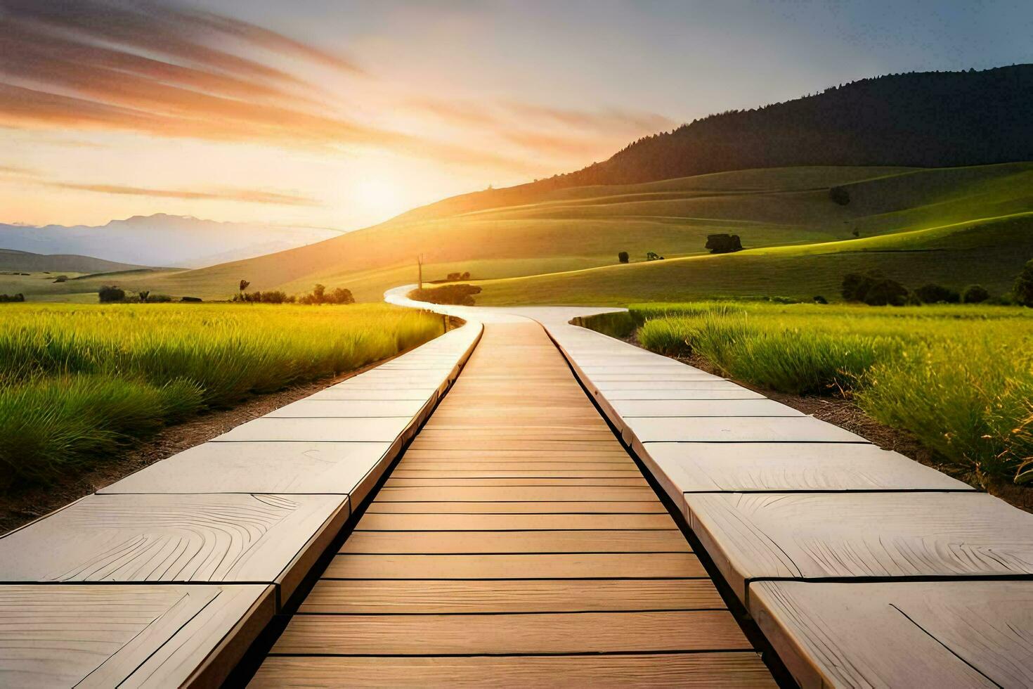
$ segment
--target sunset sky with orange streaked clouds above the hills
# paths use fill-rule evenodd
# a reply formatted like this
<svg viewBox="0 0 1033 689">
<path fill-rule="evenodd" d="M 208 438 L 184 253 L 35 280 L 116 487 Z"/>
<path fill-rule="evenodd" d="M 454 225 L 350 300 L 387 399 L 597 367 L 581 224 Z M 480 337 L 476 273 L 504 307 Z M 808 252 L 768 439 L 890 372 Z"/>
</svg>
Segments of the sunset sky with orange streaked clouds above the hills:
<svg viewBox="0 0 1033 689">
<path fill-rule="evenodd" d="M 0 0 L 0 222 L 354 229 L 1031 35 L 1028 1 Z"/>
</svg>

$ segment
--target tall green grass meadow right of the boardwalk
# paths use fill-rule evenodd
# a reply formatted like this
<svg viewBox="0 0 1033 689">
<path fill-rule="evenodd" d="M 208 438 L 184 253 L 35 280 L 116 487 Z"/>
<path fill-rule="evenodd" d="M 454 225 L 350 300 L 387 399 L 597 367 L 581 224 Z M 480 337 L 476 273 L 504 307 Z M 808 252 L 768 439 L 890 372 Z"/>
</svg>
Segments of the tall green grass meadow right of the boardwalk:
<svg viewBox="0 0 1033 689">
<path fill-rule="evenodd" d="M 761 387 L 851 398 L 960 472 L 1033 481 L 1033 310 L 700 302 L 588 320 Z"/>
</svg>

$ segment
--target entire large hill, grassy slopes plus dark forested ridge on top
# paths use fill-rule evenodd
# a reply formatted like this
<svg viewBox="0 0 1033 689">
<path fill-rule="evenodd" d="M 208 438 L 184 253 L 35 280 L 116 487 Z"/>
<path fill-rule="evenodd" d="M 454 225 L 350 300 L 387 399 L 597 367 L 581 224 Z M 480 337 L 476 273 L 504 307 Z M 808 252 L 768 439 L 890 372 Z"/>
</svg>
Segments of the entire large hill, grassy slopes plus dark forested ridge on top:
<svg viewBox="0 0 1033 689">
<path fill-rule="evenodd" d="M 1033 102 L 1031 70 L 868 80 L 789 103 L 715 116 L 702 121 L 705 127 L 697 122 L 649 137 L 586 168 L 612 174 L 582 170 L 465 194 L 317 244 L 191 271 L 125 274 L 118 283 L 225 299 L 241 279 L 249 280 L 252 289 L 288 292 L 307 291 L 319 282 L 348 287 L 358 301 L 377 301 L 385 288 L 414 282 L 416 257 L 422 255 L 425 279 L 468 271 L 484 288 L 481 303 L 626 303 L 720 294 L 833 299 L 844 273 L 866 268 L 882 269 L 912 286 L 979 282 L 1003 291 L 1018 267 L 1033 256 L 1027 215 L 1033 212 L 1033 163 L 921 165 L 1033 159 L 1031 128 L 1016 130 L 1013 115 L 1001 116 L 994 132 L 964 130 L 1000 115 L 1001 102 Z M 1011 87 L 1018 92 L 1007 90 Z M 1000 97 L 989 98 L 995 89 L 1002 90 Z M 944 102 L 950 97 L 966 106 Z M 907 105 L 909 98 L 924 101 Z M 909 119 L 927 113 L 930 98 L 945 115 L 932 122 Z M 874 107 L 876 102 L 882 109 Z M 862 124 L 852 129 L 842 118 L 820 122 L 837 108 L 866 103 L 867 109 L 854 113 Z M 897 115 L 884 112 L 889 109 Z M 800 131 L 779 129 L 790 115 L 801 117 L 802 125 L 809 123 L 815 136 L 838 132 L 843 140 L 797 146 L 794 158 L 772 153 L 757 160 L 760 167 L 649 179 L 696 170 L 700 161 L 710 161 L 703 168 L 743 164 L 769 145 L 788 150 L 784 142 L 752 134 L 734 146 L 722 136 L 755 126 L 769 137 L 779 131 L 790 139 L 796 135 L 800 144 Z M 897 129 L 886 129 L 898 115 Z M 871 124 L 870 131 L 858 131 L 864 122 Z M 806 134 L 806 129 L 801 131 Z M 707 140 L 725 142 L 727 155 L 720 164 L 693 148 L 696 144 L 686 144 L 697 137 L 688 132 L 703 130 L 713 132 Z M 896 144 L 869 147 L 872 132 Z M 909 137 L 906 146 L 901 136 Z M 994 137 L 1014 147 L 1006 149 Z M 804 164 L 813 158 L 814 147 L 835 155 L 821 154 L 826 164 Z M 732 155 L 733 149 L 742 156 Z M 643 162 L 649 160 L 656 165 Z M 680 161 L 681 167 L 664 160 Z M 770 166 L 780 160 L 793 164 Z M 852 164 L 858 161 L 867 164 Z M 841 188 L 848 202 L 834 200 L 833 187 Z M 710 255 L 705 244 L 714 232 L 739 234 L 746 251 Z M 631 254 L 630 264 L 617 264 L 620 251 Z M 666 260 L 645 262 L 647 252 Z M 76 285 L 46 289 L 87 291 L 102 281 L 112 278 L 84 277 Z"/>
</svg>

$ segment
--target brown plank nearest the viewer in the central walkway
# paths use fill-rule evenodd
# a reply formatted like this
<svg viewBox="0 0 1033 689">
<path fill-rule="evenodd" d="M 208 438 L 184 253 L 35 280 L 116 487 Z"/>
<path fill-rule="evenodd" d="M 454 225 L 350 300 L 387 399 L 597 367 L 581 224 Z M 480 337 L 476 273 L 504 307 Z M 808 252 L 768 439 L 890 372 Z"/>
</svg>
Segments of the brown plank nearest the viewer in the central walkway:
<svg viewBox="0 0 1033 689">
<path fill-rule="evenodd" d="M 342 681 L 342 678 L 347 678 Z M 760 689 L 777 685 L 755 653 L 471 658 L 265 659 L 249 687 L 643 687 Z"/>
</svg>

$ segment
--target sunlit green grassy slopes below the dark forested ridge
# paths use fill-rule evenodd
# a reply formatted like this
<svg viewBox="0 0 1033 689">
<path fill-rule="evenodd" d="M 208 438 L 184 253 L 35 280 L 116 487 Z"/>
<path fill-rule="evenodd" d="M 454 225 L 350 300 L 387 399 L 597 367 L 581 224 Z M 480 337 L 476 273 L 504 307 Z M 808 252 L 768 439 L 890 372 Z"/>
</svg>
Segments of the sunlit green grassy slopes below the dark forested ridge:
<svg viewBox="0 0 1033 689">
<path fill-rule="evenodd" d="M 829 198 L 844 186 L 850 202 Z M 470 272 L 478 304 L 626 304 L 721 295 L 834 299 L 846 272 L 994 291 L 1033 257 L 1033 163 L 963 168 L 785 167 L 649 184 L 446 199 L 374 227 L 211 268 L 33 281 L 0 292 L 66 299 L 100 284 L 226 299 L 252 289 L 306 292 L 316 282 L 363 302 L 424 276 Z M 504 191 L 504 190 L 503 190 Z M 505 205 L 483 208 L 488 199 Z M 857 230 L 859 239 L 853 238 Z M 712 256 L 712 232 L 746 251 Z M 627 251 L 631 263 L 618 264 Z M 648 251 L 666 257 L 645 262 Z M 0 276 L 2 277 L 2 276 Z M 911 286 L 918 286 L 913 284 Z"/>
</svg>

